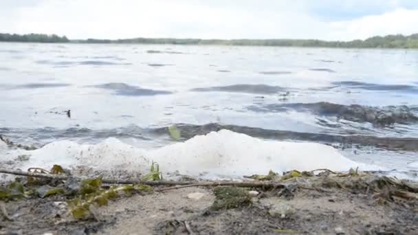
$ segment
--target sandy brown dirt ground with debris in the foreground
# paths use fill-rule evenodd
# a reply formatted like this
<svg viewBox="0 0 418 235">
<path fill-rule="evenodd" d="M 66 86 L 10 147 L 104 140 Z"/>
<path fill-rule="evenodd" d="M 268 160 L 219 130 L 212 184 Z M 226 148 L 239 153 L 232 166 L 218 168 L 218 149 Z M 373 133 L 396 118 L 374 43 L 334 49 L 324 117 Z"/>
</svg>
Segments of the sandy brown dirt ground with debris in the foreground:
<svg viewBox="0 0 418 235">
<path fill-rule="evenodd" d="M 92 208 L 87 221 L 72 219 L 63 196 L 9 201 L 0 234 L 418 234 L 417 192 L 373 181 L 376 192 L 355 178 L 290 179 L 229 210 L 211 209 L 213 188 L 133 194 Z"/>
</svg>

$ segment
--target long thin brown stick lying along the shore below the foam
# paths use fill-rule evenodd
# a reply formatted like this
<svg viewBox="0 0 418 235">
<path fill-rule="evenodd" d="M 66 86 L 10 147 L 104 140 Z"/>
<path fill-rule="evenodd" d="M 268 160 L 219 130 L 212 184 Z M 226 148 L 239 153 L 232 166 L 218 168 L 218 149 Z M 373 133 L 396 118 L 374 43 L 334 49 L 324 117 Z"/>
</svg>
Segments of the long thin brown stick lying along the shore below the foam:
<svg viewBox="0 0 418 235">
<path fill-rule="evenodd" d="M 65 180 L 68 179 L 68 176 L 65 175 L 47 175 L 35 172 L 25 172 L 22 170 L 7 170 L 1 169 L 0 173 L 10 174 L 10 175 L 21 175 L 26 177 L 38 177 L 44 179 L 58 179 L 58 180 Z M 76 178 L 80 179 L 80 178 Z M 81 179 L 80 179 L 81 180 Z M 274 183 L 274 182 L 234 182 L 234 181 L 219 181 L 219 182 L 198 182 L 198 181 L 142 181 L 139 179 L 134 180 L 120 180 L 120 179 L 102 179 L 102 183 L 109 183 L 109 184 L 145 184 L 148 186 L 177 186 L 171 187 L 163 190 L 170 190 L 176 188 L 186 188 L 186 187 L 216 187 L 216 186 L 235 186 L 235 187 L 244 187 L 244 188 L 270 188 L 270 187 L 278 187 L 278 188 L 285 188 L 285 185 L 281 183 Z M 159 190 L 158 190 L 159 191 Z"/>
</svg>

